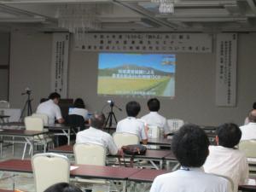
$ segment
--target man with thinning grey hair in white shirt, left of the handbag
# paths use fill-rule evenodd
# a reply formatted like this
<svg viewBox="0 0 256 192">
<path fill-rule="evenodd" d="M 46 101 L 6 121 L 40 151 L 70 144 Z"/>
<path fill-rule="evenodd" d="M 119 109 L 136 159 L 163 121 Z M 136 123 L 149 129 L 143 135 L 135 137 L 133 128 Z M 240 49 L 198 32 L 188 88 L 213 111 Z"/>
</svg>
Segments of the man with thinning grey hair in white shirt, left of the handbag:
<svg viewBox="0 0 256 192">
<path fill-rule="evenodd" d="M 89 129 L 78 132 L 76 143 L 95 143 L 105 147 L 109 154 L 121 153 L 113 142 L 113 137 L 102 131 L 105 124 L 103 113 L 94 113 L 89 119 L 89 124 Z"/>
</svg>

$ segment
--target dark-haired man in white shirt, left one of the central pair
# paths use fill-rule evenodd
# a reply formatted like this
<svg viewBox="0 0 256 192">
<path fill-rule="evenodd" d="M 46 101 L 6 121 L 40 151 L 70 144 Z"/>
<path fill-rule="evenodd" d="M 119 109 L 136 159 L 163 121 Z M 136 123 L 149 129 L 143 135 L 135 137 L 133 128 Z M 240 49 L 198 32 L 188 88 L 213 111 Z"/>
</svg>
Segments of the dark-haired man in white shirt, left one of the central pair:
<svg viewBox="0 0 256 192">
<path fill-rule="evenodd" d="M 136 119 L 140 112 L 141 106 L 138 102 L 128 102 L 126 104 L 127 118 L 118 122 L 117 132 L 128 132 L 140 137 L 143 144 L 148 143 L 148 127 L 142 119 Z"/>
</svg>

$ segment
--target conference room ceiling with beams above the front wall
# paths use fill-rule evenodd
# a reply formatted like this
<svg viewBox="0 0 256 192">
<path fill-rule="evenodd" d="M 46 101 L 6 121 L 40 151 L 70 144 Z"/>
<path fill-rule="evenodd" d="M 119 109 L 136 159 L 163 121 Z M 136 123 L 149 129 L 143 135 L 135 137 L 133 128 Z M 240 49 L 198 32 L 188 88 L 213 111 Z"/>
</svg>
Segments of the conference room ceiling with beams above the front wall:
<svg viewBox="0 0 256 192">
<path fill-rule="evenodd" d="M 89 32 L 256 31 L 256 0 L 2 0 L 0 31 L 67 32 L 60 10 L 72 6 L 93 10 Z"/>
</svg>

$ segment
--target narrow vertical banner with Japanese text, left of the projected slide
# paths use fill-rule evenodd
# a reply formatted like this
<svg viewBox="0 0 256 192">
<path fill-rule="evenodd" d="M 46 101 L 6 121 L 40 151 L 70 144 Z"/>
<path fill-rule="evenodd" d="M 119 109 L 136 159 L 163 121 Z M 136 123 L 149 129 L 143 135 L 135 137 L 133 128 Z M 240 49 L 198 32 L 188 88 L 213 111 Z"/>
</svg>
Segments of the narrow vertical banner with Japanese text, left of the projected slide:
<svg viewBox="0 0 256 192">
<path fill-rule="evenodd" d="M 53 33 L 51 59 L 51 91 L 67 98 L 67 62 L 69 33 Z"/>
</svg>

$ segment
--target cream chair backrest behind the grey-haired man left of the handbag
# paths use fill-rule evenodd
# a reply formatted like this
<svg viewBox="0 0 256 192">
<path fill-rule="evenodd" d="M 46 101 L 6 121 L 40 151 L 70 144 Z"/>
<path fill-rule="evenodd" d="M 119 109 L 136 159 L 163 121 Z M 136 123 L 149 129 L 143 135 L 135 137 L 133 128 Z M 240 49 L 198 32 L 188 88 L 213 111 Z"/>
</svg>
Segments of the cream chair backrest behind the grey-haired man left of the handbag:
<svg viewBox="0 0 256 192">
<path fill-rule="evenodd" d="M 106 149 L 94 143 L 76 143 L 73 146 L 76 164 L 105 166 Z"/>
</svg>

